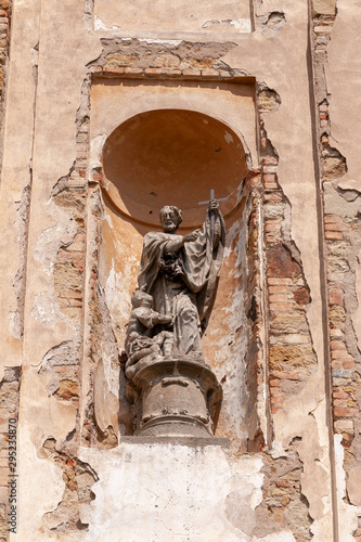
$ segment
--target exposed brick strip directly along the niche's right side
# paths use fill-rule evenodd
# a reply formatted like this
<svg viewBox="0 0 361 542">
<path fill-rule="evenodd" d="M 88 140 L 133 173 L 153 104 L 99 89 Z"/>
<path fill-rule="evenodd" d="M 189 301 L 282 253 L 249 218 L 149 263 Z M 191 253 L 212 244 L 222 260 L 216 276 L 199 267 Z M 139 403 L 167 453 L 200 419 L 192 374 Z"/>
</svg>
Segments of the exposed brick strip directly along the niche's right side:
<svg viewBox="0 0 361 542">
<path fill-rule="evenodd" d="M 268 115 L 280 105 L 280 96 L 263 85 L 257 88 L 262 180 L 262 245 L 266 284 L 265 325 L 270 447 L 273 416 L 286 399 L 305 387 L 315 371 L 317 357 L 307 320 L 311 302 L 299 251 L 291 236 L 292 212 L 278 179 L 279 155 L 268 139 Z M 263 503 L 273 528 L 287 526 L 296 540 L 310 540 L 312 519 L 301 492 L 304 465 L 297 442 L 289 443 L 282 459 L 265 449 Z"/>
</svg>

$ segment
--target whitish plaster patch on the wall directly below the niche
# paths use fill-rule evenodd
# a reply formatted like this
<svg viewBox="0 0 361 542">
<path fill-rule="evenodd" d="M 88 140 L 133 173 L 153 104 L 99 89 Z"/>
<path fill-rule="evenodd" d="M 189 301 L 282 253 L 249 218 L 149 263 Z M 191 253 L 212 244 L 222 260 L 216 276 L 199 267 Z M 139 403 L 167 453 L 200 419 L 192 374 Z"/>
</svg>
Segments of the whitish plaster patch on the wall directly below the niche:
<svg viewBox="0 0 361 542">
<path fill-rule="evenodd" d="M 243 511 L 252 516 L 261 494 L 261 459 L 246 455 L 234 459 L 217 447 L 177 444 L 123 443 L 107 453 L 106 462 L 103 453 L 94 450 L 82 449 L 80 454 L 99 475 L 93 486 L 96 498 L 90 504 L 86 542 L 107 542 L 119 535 L 121 540 L 123 533 L 127 540 L 158 542 L 168 542 L 169 537 L 179 542 L 268 540 L 247 535 L 234 526 L 234 520 L 242 525 L 244 514 L 240 509 L 232 508 L 232 522 L 227 511 L 228 495 L 241 492 Z M 144 521 L 139 521 L 139 517 Z M 284 539 L 283 533 L 279 537 L 274 539 L 278 542 L 294 540 L 288 533 Z"/>
</svg>

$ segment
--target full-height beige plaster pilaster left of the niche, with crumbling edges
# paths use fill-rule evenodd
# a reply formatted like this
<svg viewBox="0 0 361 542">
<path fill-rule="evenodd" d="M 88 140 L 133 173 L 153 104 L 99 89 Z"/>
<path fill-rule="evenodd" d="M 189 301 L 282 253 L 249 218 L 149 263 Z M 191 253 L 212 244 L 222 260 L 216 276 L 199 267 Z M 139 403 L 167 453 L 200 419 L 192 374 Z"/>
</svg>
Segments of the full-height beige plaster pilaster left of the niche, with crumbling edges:
<svg viewBox="0 0 361 542">
<path fill-rule="evenodd" d="M 77 540 L 85 528 L 81 504 L 96 479 L 76 459 L 87 194 L 83 51 L 90 53 L 91 40 L 79 3 L 15 1 L 12 14 L 0 325 L 1 420 L 8 424 L 3 410 L 16 418 L 22 479 L 13 532 L 38 540 L 43 529 L 55 535 L 67 530 L 66 540 Z M 94 43 L 92 59 L 100 54 Z"/>
</svg>

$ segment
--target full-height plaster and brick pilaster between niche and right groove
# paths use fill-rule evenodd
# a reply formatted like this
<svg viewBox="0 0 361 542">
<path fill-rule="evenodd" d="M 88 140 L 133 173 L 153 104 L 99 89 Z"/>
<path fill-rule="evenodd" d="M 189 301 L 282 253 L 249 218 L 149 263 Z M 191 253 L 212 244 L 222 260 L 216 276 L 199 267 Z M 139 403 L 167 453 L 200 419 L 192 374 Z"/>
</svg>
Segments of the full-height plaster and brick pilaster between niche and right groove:
<svg viewBox="0 0 361 542">
<path fill-rule="evenodd" d="M 272 21 L 278 23 L 270 28 Z M 299 521 L 301 532 L 293 528 L 299 540 L 312 535 L 324 540 L 333 537 L 333 505 L 325 423 L 328 404 L 317 234 L 319 202 L 306 62 L 308 22 L 305 3 L 283 2 L 281 9 L 278 2 L 262 2 L 256 10 L 258 33 L 253 55 L 247 56 L 241 43 L 223 61 L 236 65 L 243 53 L 244 69 L 252 70 L 253 63 L 257 80 L 265 81 L 263 87 L 259 85 L 258 103 L 265 190 L 267 376 L 272 412 L 270 457 L 274 461 L 271 473 L 282 465 L 280 473 L 285 467 L 289 478 L 267 475 L 263 504 L 268 503 L 279 525 L 291 527 Z M 271 69 L 265 65 L 267 60 Z M 296 457 L 299 472 L 297 466 L 292 467 Z M 299 481 L 292 482 L 293 475 L 299 475 Z"/>
</svg>

